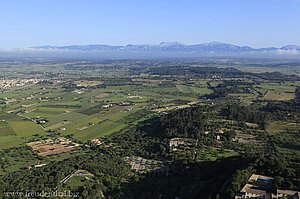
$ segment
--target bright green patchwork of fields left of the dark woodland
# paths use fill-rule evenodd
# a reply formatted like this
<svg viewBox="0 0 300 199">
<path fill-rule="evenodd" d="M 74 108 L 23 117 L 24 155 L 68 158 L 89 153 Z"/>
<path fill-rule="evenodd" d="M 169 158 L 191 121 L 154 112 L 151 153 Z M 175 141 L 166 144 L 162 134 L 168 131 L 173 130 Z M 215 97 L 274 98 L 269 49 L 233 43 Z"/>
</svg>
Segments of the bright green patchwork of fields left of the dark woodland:
<svg viewBox="0 0 300 199">
<path fill-rule="evenodd" d="M 8 143 L 13 137 L 4 136 L 14 135 L 13 142 L 23 145 L 28 140 L 22 142 L 21 137 L 29 138 L 35 134 L 47 137 L 49 133 L 45 133 L 46 131 L 72 135 L 80 141 L 88 141 L 124 129 L 130 125 L 124 118 L 132 117 L 139 110 L 153 109 L 156 112 L 160 110 L 159 106 L 168 105 L 177 99 L 186 100 L 186 104 L 171 103 L 169 106 L 184 108 L 190 102 L 199 102 L 199 96 L 212 93 L 205 82 L 201 85 L 195 82 L 192 86 L 161 86 L 160 82 L 151 79 L 134 81 L 135 85 L 132 86 L 104 87 L 105 80 L 74 78 L 72 90 L 67 89 L 66 83 L 60 80 L 51 84 L 34 84 L 30 90 L 24 87 L 5 91 L 8 105 L 3 108 L 3 113 L 17 114 L 19 119 L 8 121 L 7 125 L 4 124 L 5 121 L 2 122 L 1 140 L 7 140 L 2 148 L 13 146 Z M 147 85 L 138 85 L 139 82 Z M 53 84 L 55 86 L 51 86 Z M 1 96 L 4 97 L 4 93 Z M 153 103 L 152 100 L 157 102 Z M 34 121 L 37 120 L 42 120 L 43 123 L 35 124 Z"/>
</svg>

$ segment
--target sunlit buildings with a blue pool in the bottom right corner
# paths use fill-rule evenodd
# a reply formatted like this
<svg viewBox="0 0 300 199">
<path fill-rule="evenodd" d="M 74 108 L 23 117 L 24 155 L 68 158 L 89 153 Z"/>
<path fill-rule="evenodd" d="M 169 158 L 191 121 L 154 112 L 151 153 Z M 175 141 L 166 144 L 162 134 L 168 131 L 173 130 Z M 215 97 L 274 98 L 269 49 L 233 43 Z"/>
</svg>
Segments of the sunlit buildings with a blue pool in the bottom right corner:
<svg viewBox="0 0 300 199">
<path fill-rule="evenodd" d="M 252 174 L 247 184 L 242 188 L 235 199 L 300 199 L 300 192 L 295 190 L 274 190 L 274 179 L 269 176 Z"/>
</svg>

